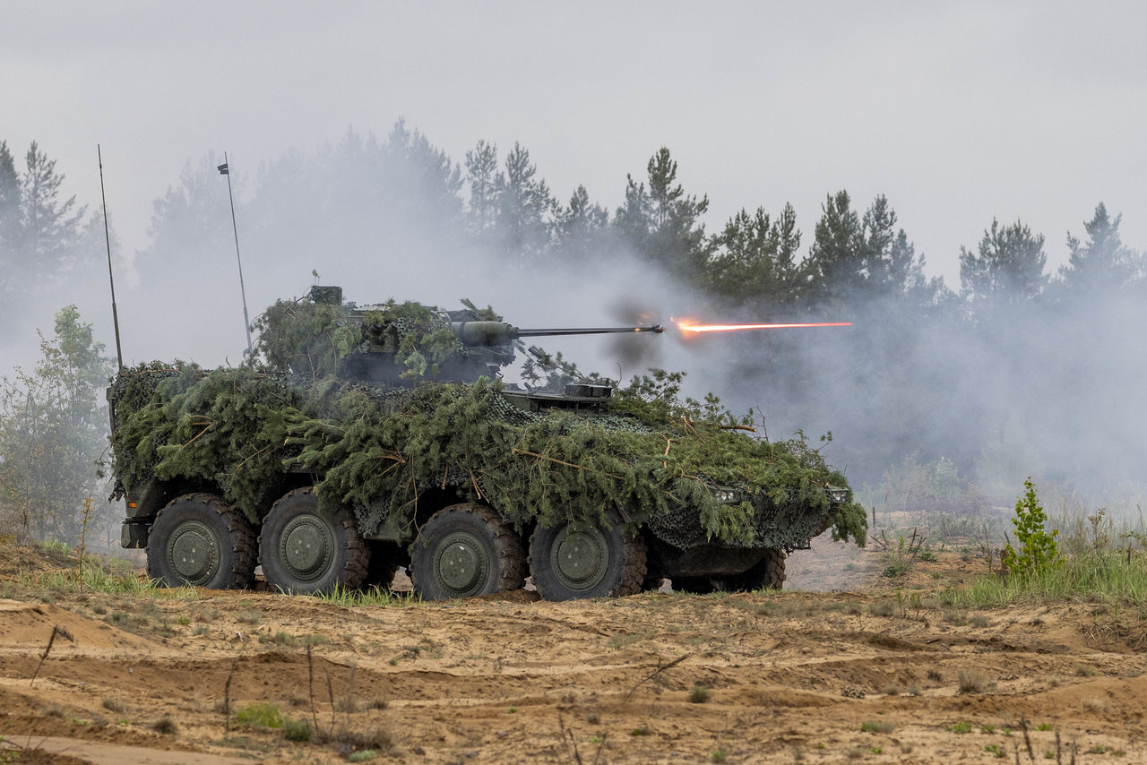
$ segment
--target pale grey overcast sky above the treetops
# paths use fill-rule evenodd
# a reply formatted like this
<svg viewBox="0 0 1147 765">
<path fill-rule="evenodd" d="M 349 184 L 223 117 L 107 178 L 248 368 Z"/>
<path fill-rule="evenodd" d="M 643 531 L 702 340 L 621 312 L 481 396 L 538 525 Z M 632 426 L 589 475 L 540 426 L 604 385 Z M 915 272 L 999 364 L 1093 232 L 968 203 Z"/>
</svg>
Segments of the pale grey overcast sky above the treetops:
<svg viewBox="0 0 1147 765">
<path fill-rule="evenodd" d="M 885 194 L 931 275 L 993 216 L 1066 258 L 1098 202 L 1147 248 L 1147 3 L 46 2 L 0 24 L 0 139 L 40 142 L 128 251 L 184 164 L 235 179 L 395 120 L 461 162 L 522 142 L 562 200 L 609 206 L 668 146 L 710 231 Z"/>
</svg>

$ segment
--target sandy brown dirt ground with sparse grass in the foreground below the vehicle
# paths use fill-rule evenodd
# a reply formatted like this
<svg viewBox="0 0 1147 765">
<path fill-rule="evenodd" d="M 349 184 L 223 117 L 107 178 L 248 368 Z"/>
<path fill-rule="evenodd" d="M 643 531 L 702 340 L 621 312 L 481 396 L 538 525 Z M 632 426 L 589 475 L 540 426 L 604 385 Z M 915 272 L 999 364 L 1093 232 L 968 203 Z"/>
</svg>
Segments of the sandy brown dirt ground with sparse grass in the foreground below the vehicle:
<svg viewBox="0 0 1147 765">
<path fill-rule="evenodd" d="M 817 540 L 782 593 L 353 608 L 30 584 L 65 567 L 0 545 L 0 763 L 1147 762 L 1141 631 L 941 606 L 986 571 L 967 551 L 896 583 Z"/>
</svg>

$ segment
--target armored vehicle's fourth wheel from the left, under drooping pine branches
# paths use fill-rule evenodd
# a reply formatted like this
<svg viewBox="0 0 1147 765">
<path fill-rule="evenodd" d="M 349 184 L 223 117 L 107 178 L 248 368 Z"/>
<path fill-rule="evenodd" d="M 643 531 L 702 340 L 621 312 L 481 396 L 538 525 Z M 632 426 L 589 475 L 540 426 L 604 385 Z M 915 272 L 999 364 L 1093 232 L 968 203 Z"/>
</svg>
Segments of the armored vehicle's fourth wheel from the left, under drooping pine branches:
<svg viewBox="0 0 1147 765">
<path fill-rule="evenodd" d="M 608 530 L 587 523 L 533 530 L 530 572 L 544 599 L 621 598 L 641 591 L 645 541 L 627 533 L 616 514 L 610 514 L 609 523 Z"/>
</svg>

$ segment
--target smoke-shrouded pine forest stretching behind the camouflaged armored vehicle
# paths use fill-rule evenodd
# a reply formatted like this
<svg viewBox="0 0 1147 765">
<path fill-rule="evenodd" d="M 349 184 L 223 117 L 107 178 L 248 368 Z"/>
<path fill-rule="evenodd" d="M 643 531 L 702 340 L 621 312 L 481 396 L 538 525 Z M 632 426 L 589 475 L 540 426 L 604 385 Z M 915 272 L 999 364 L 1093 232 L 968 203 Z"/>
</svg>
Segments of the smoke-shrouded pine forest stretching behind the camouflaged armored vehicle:
<svg viewBox="0 0 1147 765">
<path fill-rule="evenodd" d="M 103 217 L 99 200 L 63 198 L 63 169 L 39 146 L 21 162 L 14 151 L 0 141 L 0 351 L 22 361 L 5 365 L 0 522 L 76 544 L 95 498 L 95 536 L 110 545 L 119 512 L 102 500 L 97 465 L 111 310 L 88 307 L 107 295 Z M 791 205 L 751 203 L 712 225 L 668 148 L 624 181 L 619 170 L 612 210 L 582 186 L 559 195 L 525 147 L 478 141 L 455 158 L 403 122 L 258 169 L 231 159 L 228 178 L 221 156 L 188 162 L 155 200 L 145 249 L 120 251 L 111 226 L 125 362 L 242 359 L 229 180 L 248 295 L 264 300 L 252 319 L 317 272 L 359 303 L 465 297 L 523 327 L 851 321 L 548 350 L 623 382 L 650 366 L 685 370 L 687 392 L 751 408 L 763 437 L 832 432 L 829 462 L 881 510 L 982 514 L 1013 504 L 1027 476 L 1061 497 L 1141 506 L 1147 273 L 1101 200 L 1064 221 L 1069 258 L 1055 271 L 1041 233 L 985 220 L 960 248 L 957 286 L 928 275 L 884 196 L 827 192 L 819 211 L 801 211 L 811 225 Z M 46 305 L 55 322 L 37 356 L 26 318 Z"/>
</svg>

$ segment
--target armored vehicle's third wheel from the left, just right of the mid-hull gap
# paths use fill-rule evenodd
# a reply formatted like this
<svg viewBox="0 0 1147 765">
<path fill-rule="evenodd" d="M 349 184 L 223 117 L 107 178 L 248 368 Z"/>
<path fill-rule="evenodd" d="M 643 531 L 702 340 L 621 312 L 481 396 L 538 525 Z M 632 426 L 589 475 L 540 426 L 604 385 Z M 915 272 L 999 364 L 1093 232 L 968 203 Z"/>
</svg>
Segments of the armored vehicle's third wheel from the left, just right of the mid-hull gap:
<svg viewBox="0 0 1147 765">
<path fill-rule="evenodd" d="M 424 600 L 473 598 L 525 584 L 522 540 L 484 505 L 451 505 L 435 513 L 411 554 L 414 593 Z"/>
</svg>

